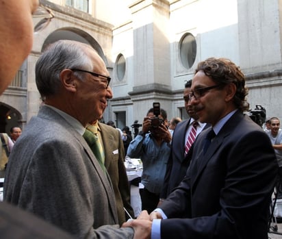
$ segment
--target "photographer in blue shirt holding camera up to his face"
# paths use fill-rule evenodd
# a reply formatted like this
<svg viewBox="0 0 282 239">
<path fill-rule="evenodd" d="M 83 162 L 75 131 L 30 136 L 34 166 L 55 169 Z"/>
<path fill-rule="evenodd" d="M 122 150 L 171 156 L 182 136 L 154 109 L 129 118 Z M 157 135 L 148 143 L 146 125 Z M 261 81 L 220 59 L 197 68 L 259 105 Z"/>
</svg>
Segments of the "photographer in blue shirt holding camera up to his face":
<svg viewBox="0 0 282 239">
<path fill-rule="evenodd" d="M 157 115 L 156 115 L 157 114 Z M 164 183 L 166 163 L 170 154 L 171 136 L 165 122 L 165 110 L 154 114 L 151 108 L 144 118 L 142 131 L 129 144 L 127 155 L 130 158 L 140 158 L 143 164 L 140 188 L 142 210 L 152 212 L 159 203 L 159 193 Z"/>
</svg>

